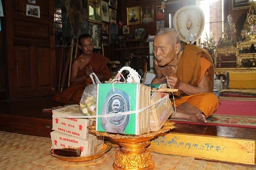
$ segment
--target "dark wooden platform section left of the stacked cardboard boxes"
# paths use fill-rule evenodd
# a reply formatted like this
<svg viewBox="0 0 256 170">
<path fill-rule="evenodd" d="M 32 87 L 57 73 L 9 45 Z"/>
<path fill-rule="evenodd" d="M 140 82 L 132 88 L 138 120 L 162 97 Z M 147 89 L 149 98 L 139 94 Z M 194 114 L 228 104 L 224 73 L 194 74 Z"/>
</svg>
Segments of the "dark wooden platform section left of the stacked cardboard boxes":
<svg viewBox="0 0 256 170">
<path fill-rule="evenodd" d="M 43 109 L 63 106 L 53 96 L 0 100 L 0 130 L 50 137 L 52 113 Z"/>
</svg>

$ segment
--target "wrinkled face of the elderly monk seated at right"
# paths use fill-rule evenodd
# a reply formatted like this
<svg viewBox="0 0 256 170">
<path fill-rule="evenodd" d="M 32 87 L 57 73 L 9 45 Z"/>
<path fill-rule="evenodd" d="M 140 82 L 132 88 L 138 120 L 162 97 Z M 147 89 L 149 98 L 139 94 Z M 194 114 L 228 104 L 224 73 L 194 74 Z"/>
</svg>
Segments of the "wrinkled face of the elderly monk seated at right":
<svg viewBox="0 0 256 170">
<path fill-rule="evenodd" d="M 169 64 L 175 58 L 174 46 L 170 44 L 169 36 L 155 36 L 153 53 L 159 66 Z"/>
</svg>

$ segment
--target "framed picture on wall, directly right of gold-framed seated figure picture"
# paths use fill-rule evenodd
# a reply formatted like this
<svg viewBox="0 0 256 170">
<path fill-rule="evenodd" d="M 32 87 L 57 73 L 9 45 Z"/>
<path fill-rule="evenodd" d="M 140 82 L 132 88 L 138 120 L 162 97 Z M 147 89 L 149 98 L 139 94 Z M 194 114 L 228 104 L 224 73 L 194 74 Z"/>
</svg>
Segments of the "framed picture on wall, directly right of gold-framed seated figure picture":
<svg viewBox="0 0 256 170">
<path fill-rule="evenodd" d="M 141 24 L 154 23 L 154 5 L 141 7 Z"/>
</svg>

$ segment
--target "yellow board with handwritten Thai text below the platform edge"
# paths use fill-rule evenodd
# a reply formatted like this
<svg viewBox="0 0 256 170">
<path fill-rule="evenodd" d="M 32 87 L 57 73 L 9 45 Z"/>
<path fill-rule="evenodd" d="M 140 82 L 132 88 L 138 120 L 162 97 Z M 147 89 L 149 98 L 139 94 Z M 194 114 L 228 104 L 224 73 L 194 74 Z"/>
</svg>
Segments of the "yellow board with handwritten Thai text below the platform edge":
<svg viewBox="0 0 256 170">
<path fill-rule="evenodd" d="M 161 133 L 155 137 L 149 151 L 189 156 L 207 160 L 255 163 L 255 141 L 209 137 L 182 133 Z"/>
</svg>

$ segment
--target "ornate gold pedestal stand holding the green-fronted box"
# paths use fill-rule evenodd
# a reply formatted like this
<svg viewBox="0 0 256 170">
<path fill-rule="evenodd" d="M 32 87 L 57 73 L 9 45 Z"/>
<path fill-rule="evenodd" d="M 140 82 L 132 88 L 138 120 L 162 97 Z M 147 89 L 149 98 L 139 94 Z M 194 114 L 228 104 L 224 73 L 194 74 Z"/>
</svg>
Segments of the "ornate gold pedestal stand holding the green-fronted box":
<svg viewBox="0 0 256 170">
<path fill-rule="evenodd" d="M 155 162 L 146 147 L 156 135 L 173 128 L 175 128 L 174 123 L 167 121 L 160 130 L 155 132 L 141 135 L 122 135 L 96 131 L 95 125 L 88 127 L 89 131 L 97 136 L 109 137 L 122 146 L 116 151 L 115 162 L 113 163 L 114 169 L 153 169 Z"/>
</svg>

